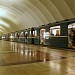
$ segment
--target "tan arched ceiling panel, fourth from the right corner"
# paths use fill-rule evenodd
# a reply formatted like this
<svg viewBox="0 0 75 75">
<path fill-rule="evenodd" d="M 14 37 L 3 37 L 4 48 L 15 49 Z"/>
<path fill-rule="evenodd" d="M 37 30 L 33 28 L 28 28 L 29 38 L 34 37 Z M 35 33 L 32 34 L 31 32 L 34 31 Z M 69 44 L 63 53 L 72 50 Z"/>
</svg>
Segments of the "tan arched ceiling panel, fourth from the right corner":
<svg viewBox="0 0 75 75">
<path fill-rule="evenodd" d="M 46 19 L 48 20 L 48 22 L 54 22 L 54 16 L 52 16 L 52 14 L 48 11 L 48 9 L 38 0 L 30 0 L 30 2 L 35 5 L 36 8 L 39 9 L 39 11 L 41 11 L 41 13 L 46 17 Z M 43 9 L 42 9 L 43 8 Z M 35 9 L 36 11 L 36 9 Z"/>
</svg>

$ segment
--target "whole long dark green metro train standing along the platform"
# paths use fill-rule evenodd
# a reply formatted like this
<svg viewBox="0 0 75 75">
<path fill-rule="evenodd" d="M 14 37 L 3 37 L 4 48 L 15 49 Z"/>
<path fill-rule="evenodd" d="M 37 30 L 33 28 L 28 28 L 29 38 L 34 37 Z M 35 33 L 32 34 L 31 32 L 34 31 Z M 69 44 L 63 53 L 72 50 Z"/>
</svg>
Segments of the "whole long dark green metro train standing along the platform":
<svg viewBox="0 0 75 75">
<path fill-rule="evenodd" d="M 16 36 L 16 42 L 20 43 L 75 48 L 75 18 L 20 30 L 17 35 L 16 32 L 14 34 L 11 36 Z"/>
</svg>

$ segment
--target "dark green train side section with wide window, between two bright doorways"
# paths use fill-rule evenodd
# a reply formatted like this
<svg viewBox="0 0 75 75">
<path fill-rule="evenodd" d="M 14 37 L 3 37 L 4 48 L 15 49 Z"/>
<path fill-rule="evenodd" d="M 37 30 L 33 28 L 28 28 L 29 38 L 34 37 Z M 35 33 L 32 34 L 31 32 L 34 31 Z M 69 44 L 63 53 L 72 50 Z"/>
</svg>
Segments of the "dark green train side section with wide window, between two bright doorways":
<svg viewBox="0 0 75 75">
<path fill-rule="evenodd" d="M 51 47 L 68 48 L 68 37 L 67 37 L 67 24 L 68 21 L 60 21 L 50 24 L 49 33 L 49 43 Z"/>
</svg>

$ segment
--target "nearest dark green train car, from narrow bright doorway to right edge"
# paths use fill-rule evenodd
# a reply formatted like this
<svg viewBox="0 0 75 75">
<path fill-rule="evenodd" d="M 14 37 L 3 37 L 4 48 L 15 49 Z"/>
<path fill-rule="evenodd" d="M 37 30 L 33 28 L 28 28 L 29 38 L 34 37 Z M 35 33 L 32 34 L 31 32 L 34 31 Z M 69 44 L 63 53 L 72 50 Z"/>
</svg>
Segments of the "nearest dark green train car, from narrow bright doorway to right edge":
<svg viewBox="0 0 75 75">
<path fill-rule="evenodd" d="M 50 47 L 74 48 L 75 42 L 71 42 L 69 34 L 75 35 L 75 19 L 66 19 L 59 22 L 42 25 L 40 29 L 40 44 Z M 72 31 L 70 33 L 70 31 Z M 70 41 L 70 42 L 69 42 Z M 72 46 L 70 46 L 70 44 Z"/>
</svg>

